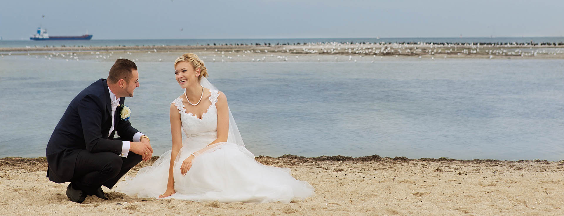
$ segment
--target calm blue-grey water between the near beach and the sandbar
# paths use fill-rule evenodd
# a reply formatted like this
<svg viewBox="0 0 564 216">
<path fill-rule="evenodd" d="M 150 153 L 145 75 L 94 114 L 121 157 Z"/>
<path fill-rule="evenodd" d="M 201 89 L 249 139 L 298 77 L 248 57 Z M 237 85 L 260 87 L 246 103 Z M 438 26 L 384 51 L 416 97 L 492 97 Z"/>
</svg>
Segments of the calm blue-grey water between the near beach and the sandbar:
<svg viewBox="0 0 564 216">
<path fill-rule="evenodd" d="M 0 158 L 45 156 L 72 98 L 111 61 L 0 59 Z M 564 159 L 564 60 L 207 62 L 255 155 Z M 139 62 L 134 127 L 171 147 L 170 62 Z"/>
</svg>

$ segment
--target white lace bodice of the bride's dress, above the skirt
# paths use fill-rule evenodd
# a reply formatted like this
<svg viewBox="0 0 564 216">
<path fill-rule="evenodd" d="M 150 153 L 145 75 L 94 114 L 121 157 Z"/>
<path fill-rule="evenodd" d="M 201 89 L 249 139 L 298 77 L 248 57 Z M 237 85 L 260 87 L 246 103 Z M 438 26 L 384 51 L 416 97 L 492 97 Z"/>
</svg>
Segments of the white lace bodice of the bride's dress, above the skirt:
<svg viewBox="0 0 564 216">
<path fill-rule="evenodd" d="M 199 140 L 201 140 L 201 138 L 206 138 L 206 140 L 211 142 L 217 138 L 217 108 L 215 103 L 217 103 L 219 91 L 210 89 L 210 93 L 209 100 L 211 105 L 202 114 L 201 119 L 192 113 L 186 113 L 182 98 L 178 97 L 170 103 L 177 107 L 180 114 L 180 122 L 182 122 L 182 130 L 188 139 L 200 138 Z"/>
</svg>

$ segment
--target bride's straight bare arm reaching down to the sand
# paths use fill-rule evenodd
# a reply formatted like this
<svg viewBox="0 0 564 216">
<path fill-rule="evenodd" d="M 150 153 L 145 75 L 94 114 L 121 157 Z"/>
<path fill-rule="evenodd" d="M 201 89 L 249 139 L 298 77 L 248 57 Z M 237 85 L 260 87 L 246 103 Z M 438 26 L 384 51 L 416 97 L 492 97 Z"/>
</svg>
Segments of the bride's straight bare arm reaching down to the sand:
<svg viewBox="0 0 564 216">
<path fill-rule="evenodd" d="M 158 196 L 159 198 L 167 197 L 174 194 L 174 174 L 173 167 L 174 161 L 178 156 L 180 148 L 182 148 L 182 123 L 180 122 L 180 114 L 174 104 L 170 105 L 170 133 L 173 138 L 173 147 L 170 152 L 170 167 L 169 167 L 169 181 L 166 185 L 164 194 Z"/>
</svg>

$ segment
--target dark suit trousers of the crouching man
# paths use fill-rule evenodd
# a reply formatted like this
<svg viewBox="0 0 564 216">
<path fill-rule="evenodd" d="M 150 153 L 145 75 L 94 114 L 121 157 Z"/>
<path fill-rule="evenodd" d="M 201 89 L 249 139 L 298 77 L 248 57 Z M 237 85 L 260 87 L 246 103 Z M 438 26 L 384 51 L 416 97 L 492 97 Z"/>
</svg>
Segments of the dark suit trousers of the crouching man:
<svg viewBox="0 0 564 216">
<path fill-rule="evenodd" d="M 141 155 L 131 151 L 127 158 L 124 158 L 112 152 L 92 153 L 86 149 L 82 150 L 78 153 L 71 183 L 75 189 L 83 190 L 87 194 L 94 194 L 102 186 L 111 189 L 142 159 Z"/>
</svg>

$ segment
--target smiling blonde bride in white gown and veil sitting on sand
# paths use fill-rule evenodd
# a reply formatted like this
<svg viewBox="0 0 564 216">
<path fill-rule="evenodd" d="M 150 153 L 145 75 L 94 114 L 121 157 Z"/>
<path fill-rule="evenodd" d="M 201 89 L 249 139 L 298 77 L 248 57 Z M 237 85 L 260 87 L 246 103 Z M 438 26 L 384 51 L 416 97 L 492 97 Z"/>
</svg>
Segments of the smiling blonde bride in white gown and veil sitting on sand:
<svg viewBox="0 0 564 216">
<path fill-rule="evenodd" d="M 126 179 L 119 191 L 222 203 L 290 203 L 314 194 L 314 187 L 294 179 L 290 169 L 254 160 L 245 149 L 226 96 L 205 78 L 204 61 L 186 53 L 177 58 L 174 69 L 185 91 L 170 105 L 172 150 L 151 167 L 140 169 L 135 178 Z"/>
</svg>

